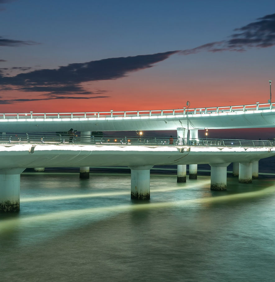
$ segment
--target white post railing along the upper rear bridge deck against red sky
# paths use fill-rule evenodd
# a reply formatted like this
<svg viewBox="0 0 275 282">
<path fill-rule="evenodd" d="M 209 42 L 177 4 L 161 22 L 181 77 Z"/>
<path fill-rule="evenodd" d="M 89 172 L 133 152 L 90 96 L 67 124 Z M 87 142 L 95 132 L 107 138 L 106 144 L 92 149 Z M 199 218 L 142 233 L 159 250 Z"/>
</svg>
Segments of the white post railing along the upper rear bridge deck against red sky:
<svg viewBox="0 0 275 282">
<path fill-rule="evenodd" d="M 232 113 L 245 111 L 272 110 L 275 103 L 251 104 L 240 106 L 225 107 L 201 107 L 190 109 L 172 109 L 172 110 L 142 110 L 142 111 L 101 111 L 101 112 L 65 112 L 65 113 L 0 113 L 1 119 L 82 119 L 82 118 L 116 118 L 116 117 L 140 117 L 140 116 L 177 116 L 186 115 L 205 115 L 218 113 Z"/>
</svg>

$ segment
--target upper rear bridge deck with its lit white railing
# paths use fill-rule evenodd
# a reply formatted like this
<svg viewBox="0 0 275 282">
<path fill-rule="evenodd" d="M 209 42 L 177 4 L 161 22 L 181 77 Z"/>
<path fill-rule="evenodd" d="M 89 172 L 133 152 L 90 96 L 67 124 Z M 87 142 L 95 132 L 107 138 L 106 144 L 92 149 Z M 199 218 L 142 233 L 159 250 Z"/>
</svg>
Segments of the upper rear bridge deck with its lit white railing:
<svg viewBox="0 0 275 282">
<path fill-rule="evenodd" d="M 275 127 L 275 103 L 242 106 L 90 113 L 0 114 L 2 132 L 132 131 Z"/>
</svg>

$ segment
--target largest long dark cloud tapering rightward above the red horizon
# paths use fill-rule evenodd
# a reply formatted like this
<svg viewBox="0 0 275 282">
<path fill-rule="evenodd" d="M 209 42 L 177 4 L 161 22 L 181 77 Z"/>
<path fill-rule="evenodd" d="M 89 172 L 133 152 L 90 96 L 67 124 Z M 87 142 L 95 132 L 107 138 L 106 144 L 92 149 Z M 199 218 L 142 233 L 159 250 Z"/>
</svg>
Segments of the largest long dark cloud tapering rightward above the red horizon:
<svg viewBox="0 0 275 282">
<path fill-rule="evenodd" d="M 52 94 L 92 94 L 79 84 L 97 80 L 113 80 L 129 72 L 150 68 L 154 63 L 167 59 L 178 51 L 139 55 L 135 57 L 109 58 L 85 63 L 73 63 L 58 69 L 34 70 L 15 76 L 0 76 L 2 87 L 14 86 L 24 92 L 49 92 Z"/>
</svg>

